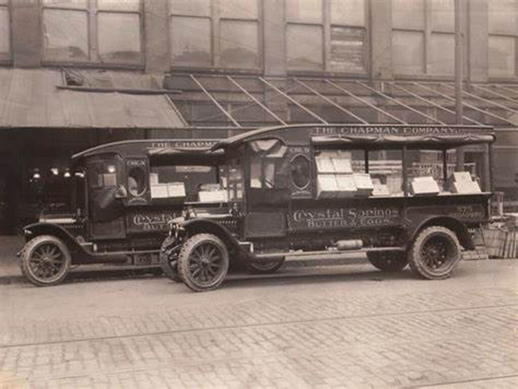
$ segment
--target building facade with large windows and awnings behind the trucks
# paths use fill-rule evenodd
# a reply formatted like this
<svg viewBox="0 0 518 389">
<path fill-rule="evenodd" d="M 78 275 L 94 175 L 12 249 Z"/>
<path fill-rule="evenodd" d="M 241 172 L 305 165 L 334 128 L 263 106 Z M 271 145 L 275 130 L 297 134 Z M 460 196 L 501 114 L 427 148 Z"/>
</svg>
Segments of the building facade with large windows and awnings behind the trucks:
<svg viewBox="0 0 518 389">
<path fill-rule="evenodd" d="M 495 126 L 513 207 L 518 0 L 459 13 L 464 122 Z M 453 124 L 454 17 L 453 0 L 0 0 L 0 228 L 66 201 L 69 155 L 107 141 Z"/>
</svg>

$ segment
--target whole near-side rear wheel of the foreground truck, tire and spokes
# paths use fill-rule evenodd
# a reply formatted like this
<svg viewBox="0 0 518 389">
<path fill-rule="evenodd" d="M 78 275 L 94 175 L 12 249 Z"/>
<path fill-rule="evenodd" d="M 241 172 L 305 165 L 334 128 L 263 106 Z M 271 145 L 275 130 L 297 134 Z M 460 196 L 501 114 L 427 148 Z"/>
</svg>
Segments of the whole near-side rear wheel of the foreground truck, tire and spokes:
<svg viewBox="0 0 518 389">
<path fill-rule="evenodd" d="M 440 226 L 427 227 L 409 250 L 410 268 L 422 278 L 448 278 L 461 260 L 461 250 L 452 230 Z"/>
</svg>

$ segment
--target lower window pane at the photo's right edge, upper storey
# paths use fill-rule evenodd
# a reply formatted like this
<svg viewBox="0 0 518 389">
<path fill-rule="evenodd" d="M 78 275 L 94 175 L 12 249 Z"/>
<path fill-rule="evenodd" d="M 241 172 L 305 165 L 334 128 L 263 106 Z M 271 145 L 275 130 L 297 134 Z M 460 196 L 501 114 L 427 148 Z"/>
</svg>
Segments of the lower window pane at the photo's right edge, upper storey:
<svg viewBox="0 0 518 389">
<path fill-rule="evenodd" d="M 514 76 L 516 40 L 507 36 L 488 38 L 489 74 L 496 77 Z"/>
</svg>

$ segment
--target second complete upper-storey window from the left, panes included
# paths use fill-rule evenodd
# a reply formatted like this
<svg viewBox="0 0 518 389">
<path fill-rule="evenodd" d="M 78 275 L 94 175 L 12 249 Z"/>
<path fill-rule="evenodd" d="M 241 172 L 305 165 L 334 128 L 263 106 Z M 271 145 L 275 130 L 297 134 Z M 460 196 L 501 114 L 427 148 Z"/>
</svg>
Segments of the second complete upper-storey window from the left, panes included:
<svg viewBox="0 0 518 389">
<path fill-rule="evenodd" d="M 171 65 L 261 67 L 258 0 L 169 0 Z"/>
</svg>

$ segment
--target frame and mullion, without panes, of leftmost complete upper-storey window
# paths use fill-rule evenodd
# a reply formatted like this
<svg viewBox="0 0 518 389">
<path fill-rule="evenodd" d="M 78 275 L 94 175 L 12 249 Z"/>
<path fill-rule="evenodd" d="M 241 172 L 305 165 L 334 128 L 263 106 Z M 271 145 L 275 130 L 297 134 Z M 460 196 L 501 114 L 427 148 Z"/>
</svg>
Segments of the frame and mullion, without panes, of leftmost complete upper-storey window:
<svg viewBox="0 0 518 389">
<path fill-rule="evenodd" d="M 97 7 L 97 0 L 85 0 L 87 8 L 66 7 L 66 6 L 49 6 L 43 1 L 39 2 L 40 9 L 40 33 L 41 33 L 41 63 L 50 66 L 80 66 L 80 67 L 102 67 L 102 68 L 119 68 L 119 69 L 143 69 L 146 64 L 146 34 L 144 29 L 144 7 L 143 1 L 138 0 L 138 10 L 120 10 L 120 9 L 102 9 Z M 87 37 L 88 37 L 88 59 L 86 61 L 69 61 L 49 58 L 45 53 L 45 26 L 44 12 L 45 9 L 61 10 L 61 11 L 82 11 L 87 13 Z M 99 53 L 99 31 L 98 18 L 101 13 L 118 13 L 138 15 L 139 18 L 139 36 L 140 36 L 140 60 L 134 63 L 130 62 L 103 62 Z"/>
</svg>

